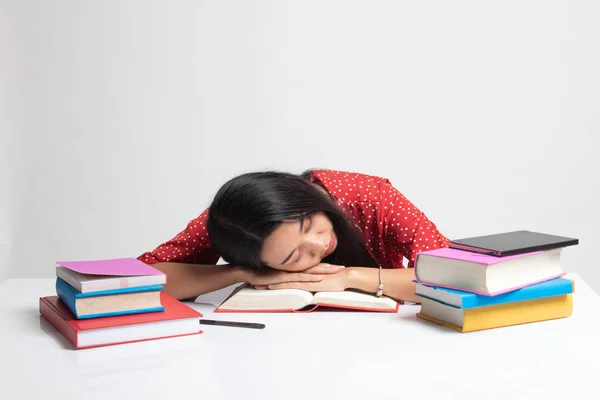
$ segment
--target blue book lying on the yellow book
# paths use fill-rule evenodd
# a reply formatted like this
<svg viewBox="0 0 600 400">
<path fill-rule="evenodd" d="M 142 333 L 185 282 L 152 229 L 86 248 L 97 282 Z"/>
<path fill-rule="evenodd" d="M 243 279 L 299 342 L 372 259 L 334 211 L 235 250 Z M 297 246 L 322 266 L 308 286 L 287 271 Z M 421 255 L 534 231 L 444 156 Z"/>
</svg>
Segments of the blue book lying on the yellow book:
<svg viewBox="0 0 600 400">
<path fill-rule="evenodd" d="M 573 293 L 573 285 L 574 283 L 568 279 L 556 278 L 496 296 L 482 296 L 460 290 L 425 286 L 417 282 L 416 295 L 455 308 L 466 309 L 570 294 Z"/>
</svg>

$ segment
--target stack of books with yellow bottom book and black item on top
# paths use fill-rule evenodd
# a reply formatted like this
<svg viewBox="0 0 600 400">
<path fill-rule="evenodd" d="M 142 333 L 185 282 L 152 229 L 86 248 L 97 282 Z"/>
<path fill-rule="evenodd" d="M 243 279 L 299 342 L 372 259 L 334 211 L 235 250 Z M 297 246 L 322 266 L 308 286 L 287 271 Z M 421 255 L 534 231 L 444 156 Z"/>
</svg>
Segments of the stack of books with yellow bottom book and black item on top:
<svg viewBox="0 0 600 400">
<path fill-rule="evenodd" d="M 417 317 L 459 332 L 566 318 L 574 284 L 563 278 L 563 249 L 577 239 L 513 231 L 451 241 L 419 253 Z"/>
</svg>

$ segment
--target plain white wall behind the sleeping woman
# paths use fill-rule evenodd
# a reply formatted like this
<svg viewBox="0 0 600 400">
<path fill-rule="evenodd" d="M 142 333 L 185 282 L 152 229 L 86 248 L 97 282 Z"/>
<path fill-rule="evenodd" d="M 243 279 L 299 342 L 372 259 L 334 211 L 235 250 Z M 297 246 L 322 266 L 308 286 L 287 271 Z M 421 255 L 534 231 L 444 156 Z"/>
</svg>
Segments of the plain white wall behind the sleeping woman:
<svg viewBox="0 0 600 400">
<path fill-rule="evenodd" d="M 600 291 L 600 3 L 3 1 L 0 279 L 137 256 L 236 174 L 390 178 L 451 238 L 580 239 Z"/>
</svg>

